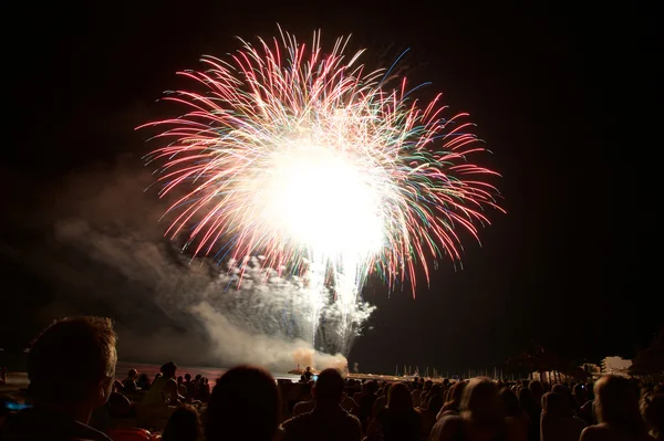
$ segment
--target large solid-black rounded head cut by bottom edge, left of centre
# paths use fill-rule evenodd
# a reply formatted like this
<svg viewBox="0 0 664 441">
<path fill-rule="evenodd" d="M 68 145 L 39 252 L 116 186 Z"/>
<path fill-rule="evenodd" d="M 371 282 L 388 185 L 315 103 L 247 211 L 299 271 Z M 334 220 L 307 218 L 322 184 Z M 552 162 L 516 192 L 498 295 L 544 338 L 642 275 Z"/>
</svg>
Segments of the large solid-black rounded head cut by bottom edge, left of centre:
<svg viewBox="0 0 664 441">
<path fill-rule="evenodd" d="M 241 430 L 242 440 L 269 441 L 280 421 L 279 390 L 264 369 L 238 366 L 217 380 L 208 405 L 206 441 L 228 438 Z"/>
</svg>

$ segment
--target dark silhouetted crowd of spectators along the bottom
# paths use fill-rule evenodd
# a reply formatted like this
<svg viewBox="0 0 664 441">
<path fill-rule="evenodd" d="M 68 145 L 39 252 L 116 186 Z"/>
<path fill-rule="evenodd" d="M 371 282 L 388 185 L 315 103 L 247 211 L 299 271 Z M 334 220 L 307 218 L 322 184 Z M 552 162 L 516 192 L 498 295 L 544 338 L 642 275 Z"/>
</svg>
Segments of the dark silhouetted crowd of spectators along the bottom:
<svg viewBox="0 0 664 441">
<path fill-rule="evenodd" d="M 65 318 L 28 355 L 30 405 L 0 417 L 0 440 L 90 441 L 646 441 L 662 440 L 662 385 L 360 381 L 335 369 L 276 381 L 257 366 L 216 380 L 177 375 L 115 380 L 112 322 Z M 310 370 L 308 372 L 311 374 Z"/>
</svg>

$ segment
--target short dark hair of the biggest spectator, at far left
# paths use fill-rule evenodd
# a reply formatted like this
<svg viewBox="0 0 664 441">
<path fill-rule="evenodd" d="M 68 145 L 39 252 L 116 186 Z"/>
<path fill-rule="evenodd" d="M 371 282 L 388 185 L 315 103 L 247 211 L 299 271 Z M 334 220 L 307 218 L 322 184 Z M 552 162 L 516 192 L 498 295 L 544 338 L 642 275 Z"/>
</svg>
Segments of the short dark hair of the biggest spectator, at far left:
<svg viewBox="0 0 664 441">
<path fill-rule="evenodd" d="M 116 339 L 110 318 L 53 323 L 34 339 L 28 354 L 30 391 L 35 399 L 49 402 L 85 399 L 98 381 L 113 379 Z"/>
</svg>

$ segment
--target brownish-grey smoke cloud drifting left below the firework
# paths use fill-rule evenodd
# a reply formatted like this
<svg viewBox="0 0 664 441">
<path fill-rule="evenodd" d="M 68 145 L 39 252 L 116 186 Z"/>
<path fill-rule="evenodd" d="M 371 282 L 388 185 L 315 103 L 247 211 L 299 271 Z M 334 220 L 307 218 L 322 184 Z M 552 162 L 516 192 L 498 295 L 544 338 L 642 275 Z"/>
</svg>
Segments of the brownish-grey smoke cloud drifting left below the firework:
<svg viewBox="0 0 664 441">
<path fill-rule="evenodd" d="M 42 315 L 114 311 L 125 360 L 346 368 L 342 355 L 314 349 L 313 333 L 328 350 L 347 350 L 371 307 L 357 309 L 339 342 L 333 302 L 326 325 L 315 330 L 297 277 L 266 273 L 253 260 L 237 290 L 236 274 L 211 260 L 191 261 L 163 238 L 157 221 L 166 202 L 143 191 L 153 177 L 137 162 L 121 158 L 45 192 L 33 223 L 50 232 L 46 243 L 34 254 L 13 253 L 62 293 Z"/>
</svg>

